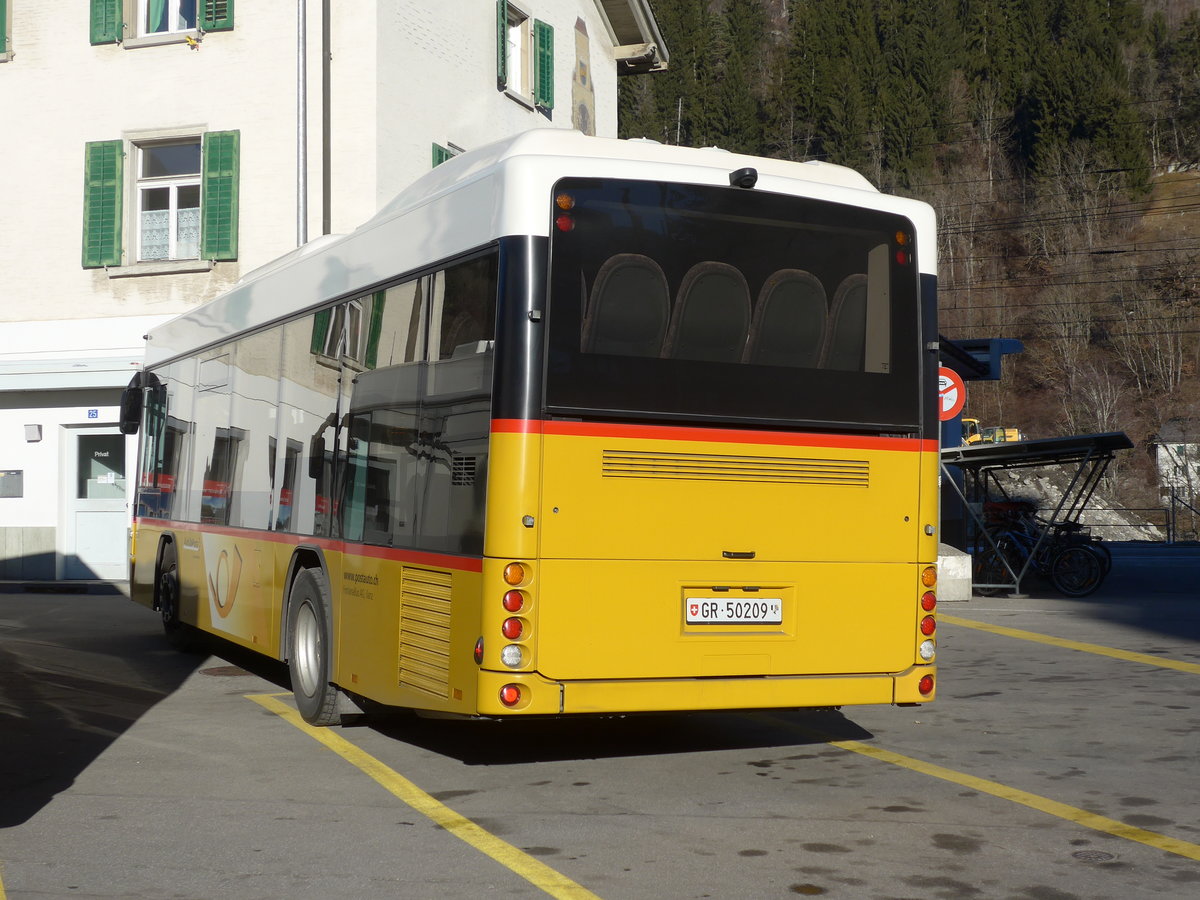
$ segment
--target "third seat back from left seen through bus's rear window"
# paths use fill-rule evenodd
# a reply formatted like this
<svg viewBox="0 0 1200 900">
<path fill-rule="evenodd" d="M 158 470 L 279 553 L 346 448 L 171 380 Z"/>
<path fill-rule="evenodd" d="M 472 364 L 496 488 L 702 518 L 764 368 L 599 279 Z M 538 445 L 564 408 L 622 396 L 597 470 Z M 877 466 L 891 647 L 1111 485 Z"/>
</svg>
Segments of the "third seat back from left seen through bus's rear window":
<svg viewBox="0 0 1200 900">
<path fill-rule="evenodd" d="M 780 269 L 758 292 L 743 362 L 815 368 L 824 344 L 829 302 L 821 281 L 802 269 Z"/>
</svg>

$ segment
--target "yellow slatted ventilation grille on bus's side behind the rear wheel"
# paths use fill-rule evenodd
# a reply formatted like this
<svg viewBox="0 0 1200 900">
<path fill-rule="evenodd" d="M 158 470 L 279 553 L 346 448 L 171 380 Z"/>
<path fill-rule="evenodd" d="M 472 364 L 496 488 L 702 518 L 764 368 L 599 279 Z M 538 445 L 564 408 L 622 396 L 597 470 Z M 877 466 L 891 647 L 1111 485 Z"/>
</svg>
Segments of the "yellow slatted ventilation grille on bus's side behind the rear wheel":
<svg viewBox="0 0 1200 900">
<path fill-rule="evenodd" d="M 400 685 L 450 692 L 450 572 L 404 566 L 400 592 Z"/>
</svg>

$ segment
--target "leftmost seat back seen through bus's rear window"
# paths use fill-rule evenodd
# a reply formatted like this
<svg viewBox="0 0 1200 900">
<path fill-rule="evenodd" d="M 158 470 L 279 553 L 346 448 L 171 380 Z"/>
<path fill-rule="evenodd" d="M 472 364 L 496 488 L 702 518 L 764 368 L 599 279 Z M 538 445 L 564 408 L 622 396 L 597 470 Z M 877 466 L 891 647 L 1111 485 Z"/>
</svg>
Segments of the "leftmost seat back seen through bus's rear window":
<svg viewBox="0 0 1200 900">
<path fill-rule="evenodd" d="M 640 253 L 605 260 L 592 284 L 583 319 L 583 353 L 658 356 L 671 311 L 671 288 L 662 269 Z"/>
</svg>

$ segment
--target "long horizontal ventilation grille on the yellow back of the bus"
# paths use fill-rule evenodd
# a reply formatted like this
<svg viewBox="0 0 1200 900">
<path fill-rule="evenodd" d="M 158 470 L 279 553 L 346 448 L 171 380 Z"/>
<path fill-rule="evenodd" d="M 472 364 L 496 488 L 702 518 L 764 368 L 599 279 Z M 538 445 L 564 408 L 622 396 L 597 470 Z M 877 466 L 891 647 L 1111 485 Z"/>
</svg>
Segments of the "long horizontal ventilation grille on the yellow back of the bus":
<svg viewBox="0 0 1200 900">
<path fill-rule="evenodd" d="M 653 478 L 680 481 L 772 481 L 797 485 L 869 487 L 866 460 L 797 460 L 781 456 L 648 454 L 605 450 L 605 478 Z"/>
</svg>

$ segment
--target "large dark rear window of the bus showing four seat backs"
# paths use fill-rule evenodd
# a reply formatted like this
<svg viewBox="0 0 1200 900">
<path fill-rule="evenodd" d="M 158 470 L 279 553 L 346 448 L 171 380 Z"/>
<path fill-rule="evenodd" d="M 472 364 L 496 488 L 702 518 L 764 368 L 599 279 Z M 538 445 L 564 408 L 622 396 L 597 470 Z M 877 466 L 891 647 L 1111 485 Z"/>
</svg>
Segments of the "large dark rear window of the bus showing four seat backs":
<svg viewBox="0 0 1200 900">
<path fill-rule="evenodd" d="M 552 412 L 917 427 L 906 218 L 640 181 L 568 179 L 554 202 Z"/>
</svg>

